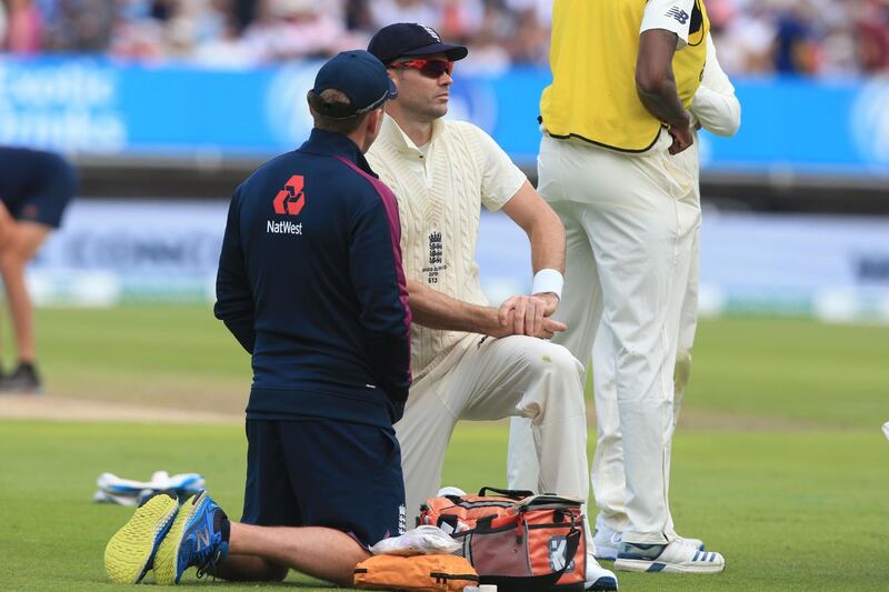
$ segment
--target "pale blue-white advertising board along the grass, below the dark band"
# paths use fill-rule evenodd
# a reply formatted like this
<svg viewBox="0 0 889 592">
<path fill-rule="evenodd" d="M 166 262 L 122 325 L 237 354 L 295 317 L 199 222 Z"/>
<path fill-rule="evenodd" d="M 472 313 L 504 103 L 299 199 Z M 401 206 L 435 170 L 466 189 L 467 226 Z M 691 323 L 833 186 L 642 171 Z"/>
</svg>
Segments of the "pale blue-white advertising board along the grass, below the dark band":
<svg viewBox="0 0 889 592">
<path fill-rule="evenodd" d="M 72 204 L 29 269 L 41 304 L 211 302 L 227 204 Z M 492 303 L 531 283 L 527 237 L 485 212 L 478 242 Z M 889 322 L 889 220 L 708 212 L 701 237 L 705 314 L 816 315 Z"/>
</svg>

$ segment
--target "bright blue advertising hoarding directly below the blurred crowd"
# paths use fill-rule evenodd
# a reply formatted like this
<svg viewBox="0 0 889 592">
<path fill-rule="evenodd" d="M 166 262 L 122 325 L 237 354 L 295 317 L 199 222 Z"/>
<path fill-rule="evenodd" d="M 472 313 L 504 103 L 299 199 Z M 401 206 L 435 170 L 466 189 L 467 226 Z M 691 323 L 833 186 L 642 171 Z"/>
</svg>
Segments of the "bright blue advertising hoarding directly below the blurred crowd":
<svg viewBox="0 0 889 592">
<path fill-rule="evenodd" d="M 72 154 L 264 159 L 311 127 L 318 63 L 250 71 L 144 67 L 101 59 L 0 59 L 0 142 Z M 487 130 L 533 164 L 545 69 L 457 70 L 450 117 Z M 889 80 L 736 80 L 742 124 L 702 136 L 706 170 L 889 178 Z"/>
</svg>

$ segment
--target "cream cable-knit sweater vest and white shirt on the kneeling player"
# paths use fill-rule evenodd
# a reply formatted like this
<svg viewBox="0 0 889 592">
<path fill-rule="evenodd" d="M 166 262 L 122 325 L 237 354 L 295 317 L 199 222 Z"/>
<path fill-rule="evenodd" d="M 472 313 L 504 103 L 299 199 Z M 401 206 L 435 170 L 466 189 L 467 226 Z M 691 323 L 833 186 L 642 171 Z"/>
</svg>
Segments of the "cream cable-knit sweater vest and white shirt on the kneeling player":
<svg viewBox="0 0 889 592">
<path fill-rule="evenodd" d="M 367 153 L 398 198 L 404 274 L 433 290 L 488 305 L 479 282 L 476 239 L 481 205 L 497 211 L 526 181 L 503 150 L 465 121 L 436 120 L 420 150 L 386 117 Z M 411 370 L 419 379 L 469 334 L 413 324 Z"/>
</svg>

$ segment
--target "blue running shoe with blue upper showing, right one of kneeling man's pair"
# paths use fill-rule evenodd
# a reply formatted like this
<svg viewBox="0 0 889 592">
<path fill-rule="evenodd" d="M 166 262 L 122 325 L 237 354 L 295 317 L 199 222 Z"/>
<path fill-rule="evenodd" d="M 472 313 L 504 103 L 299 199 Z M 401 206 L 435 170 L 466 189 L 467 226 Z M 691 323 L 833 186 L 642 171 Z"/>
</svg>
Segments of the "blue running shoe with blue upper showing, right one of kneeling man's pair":
<svg viewBox="0 0 889 592">
<path fill-rule="evenodd" d="M 212 573 L 229 550 L 229 519 L 206 491 L 186 500 L 154 556 L 154 581 L 178 584 L 191 566 Z"/>
</svg>

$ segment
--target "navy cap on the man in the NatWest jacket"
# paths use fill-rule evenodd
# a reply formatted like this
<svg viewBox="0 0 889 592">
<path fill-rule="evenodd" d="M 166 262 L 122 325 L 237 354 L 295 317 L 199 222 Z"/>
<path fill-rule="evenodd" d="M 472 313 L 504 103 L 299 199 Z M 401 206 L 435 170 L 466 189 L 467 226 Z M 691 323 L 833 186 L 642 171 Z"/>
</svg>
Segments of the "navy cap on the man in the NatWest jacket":
<svg viewBox="0 0 889 592">
<path fill-rule="evenodd" d="M 329 103 L 321 93 L 336 89 L 349 98 L 350 104 Z M 314 88 L 309 91 L 309 104 L 331 119 L 349 119 L 382 107 L 398 96 L 380 60 L 362 49 L 342 51 L 328 60 L 314 77 Z"/>
</svg>

